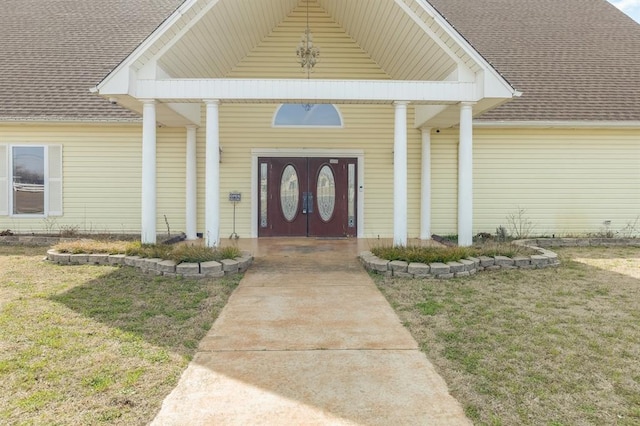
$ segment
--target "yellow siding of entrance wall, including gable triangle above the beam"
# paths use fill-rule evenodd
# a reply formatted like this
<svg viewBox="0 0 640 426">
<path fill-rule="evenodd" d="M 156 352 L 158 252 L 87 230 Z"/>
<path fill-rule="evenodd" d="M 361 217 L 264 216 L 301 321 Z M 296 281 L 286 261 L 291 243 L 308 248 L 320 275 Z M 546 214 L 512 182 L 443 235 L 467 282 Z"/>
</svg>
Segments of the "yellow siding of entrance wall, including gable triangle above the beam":
<svg viewBox="0 0 640 426">
<path fill-rule="evenodd" d="M 320 62 L 311 78 L 317 79 L 388 79 L 389 76 L 356 42 L 321 9 L 314 9 L 314 44 L 320 48 Z M 251 51 L 230 78 L 306 78 L 296 62 L 295 48 L 304 31 L 303 9 L 292 12 L 262 43 Z M 338 105 L 343 129 L 273 128 L 278 105 L 223 104 L 220 108 L 221 163 L 221 236 L 232 232 L 233 205 L 227 201 L 231 191 L 240 191 L 243 201 L 236 207 L 236 232 L 251 232 L 251 150 L 281 149 L 357 149 L 365 154 L 364 234 L 366 237 L 389 237 L 393 233 L 393 137 L 394 109 L 391 105 Z M 204 121 L 204 118 L 203 118 Z M 413 122 L 409 117 L 408 123 Z M 198 132 L 199 217 L 204 223 L 204 129 Z M 421 136 L 409 130 L 411 202 L 409 226 L 419 235 L 419 191 Z M 201 229 L 202 226 L 199 226 Z"/>
</svg>

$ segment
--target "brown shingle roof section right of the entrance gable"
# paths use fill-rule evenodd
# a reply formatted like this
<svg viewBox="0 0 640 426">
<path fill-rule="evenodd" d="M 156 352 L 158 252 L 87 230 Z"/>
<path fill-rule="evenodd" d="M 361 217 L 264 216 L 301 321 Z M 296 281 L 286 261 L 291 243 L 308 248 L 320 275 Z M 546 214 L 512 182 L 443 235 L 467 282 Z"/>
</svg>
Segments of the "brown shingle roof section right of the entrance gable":
<svg viewBox="0 0 640 426">
<path fill-rule="evenodd" d="M 605 0 L 429 0 L 519 91 L 489 120 L 640 121 L 640 25 Z"/>
</svg>

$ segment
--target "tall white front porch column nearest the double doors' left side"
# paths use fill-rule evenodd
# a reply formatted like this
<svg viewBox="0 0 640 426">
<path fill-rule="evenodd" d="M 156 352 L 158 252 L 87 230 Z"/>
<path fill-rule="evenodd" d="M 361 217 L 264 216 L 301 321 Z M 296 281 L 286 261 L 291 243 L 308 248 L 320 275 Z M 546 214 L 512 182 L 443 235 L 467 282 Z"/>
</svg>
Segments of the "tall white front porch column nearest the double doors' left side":
<svg viewBox="0 0 640 426">
<path fill-rule="evenodd" d="M 208 247 L 220 243 L 220 101 L 205 100 L 207 109 L 205 154 L 205 235 Z"/>
</svg>

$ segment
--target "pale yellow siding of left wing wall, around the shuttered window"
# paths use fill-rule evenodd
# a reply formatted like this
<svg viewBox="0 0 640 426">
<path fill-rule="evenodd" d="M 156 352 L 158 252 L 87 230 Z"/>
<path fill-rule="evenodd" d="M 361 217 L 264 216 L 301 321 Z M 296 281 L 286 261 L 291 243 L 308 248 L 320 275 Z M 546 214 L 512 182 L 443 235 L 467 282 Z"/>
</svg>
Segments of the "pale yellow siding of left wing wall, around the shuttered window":
<svg viewBox="0 0 640 426">
<path fill-rule="evenodd" d="M 158 132 L 158 231 L 184 230 L 182 129 Z M 0 216 L 14 232 L 140 232 L 141 128 L 139 125 L 2 126 L 0 144 L 60 144 L 63 149 L 63 216 Z"/>
</svg>

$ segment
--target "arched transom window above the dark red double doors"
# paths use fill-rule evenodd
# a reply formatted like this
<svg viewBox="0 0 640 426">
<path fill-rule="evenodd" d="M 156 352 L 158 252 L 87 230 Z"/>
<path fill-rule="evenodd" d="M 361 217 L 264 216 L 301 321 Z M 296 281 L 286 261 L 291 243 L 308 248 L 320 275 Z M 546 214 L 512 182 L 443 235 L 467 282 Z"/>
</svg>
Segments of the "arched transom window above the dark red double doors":
<svg viewBox="0 0 640 426">
<path fill-rule="evenodd" d="M 330 104 L 282 104 L 273 120 L 274 126 L 328 126 L 342 127 L 342 118 Z"/>
</svg>

